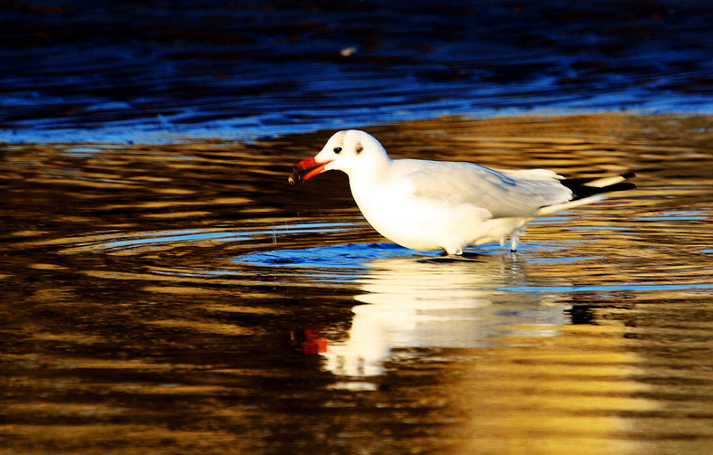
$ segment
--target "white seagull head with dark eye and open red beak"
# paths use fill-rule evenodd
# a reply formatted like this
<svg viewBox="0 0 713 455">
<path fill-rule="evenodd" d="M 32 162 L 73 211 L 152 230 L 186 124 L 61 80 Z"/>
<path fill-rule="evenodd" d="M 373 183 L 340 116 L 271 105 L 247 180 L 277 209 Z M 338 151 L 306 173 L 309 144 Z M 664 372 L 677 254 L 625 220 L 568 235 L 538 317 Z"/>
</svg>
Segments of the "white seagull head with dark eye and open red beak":
<svg viewBox="0 0 713 455">
<path fill-rule="evenodd" d="M 326 170 L 342 170 L 349 178 L 373 174 L 389 161 L 391 158 L 386 150 L 373 136 L 359 130 L 339 131 L 327 140 L 317 155 L 294 165 L 289 183 L 302 183 Z"/>
</svg>

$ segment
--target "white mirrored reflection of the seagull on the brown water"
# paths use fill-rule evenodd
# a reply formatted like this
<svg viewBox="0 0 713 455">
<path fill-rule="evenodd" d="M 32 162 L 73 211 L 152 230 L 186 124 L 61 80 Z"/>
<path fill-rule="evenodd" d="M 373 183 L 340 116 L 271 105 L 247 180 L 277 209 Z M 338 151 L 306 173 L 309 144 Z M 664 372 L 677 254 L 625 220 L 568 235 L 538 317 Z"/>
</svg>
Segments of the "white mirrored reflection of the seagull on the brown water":
<svg viewBox="0 0 713 455">
<path fill-rule="evenodd" d="M 565 324 L 567 305 L 543 302 L 538 292 L 497 290 L 527 281 L 517 267 L 509 268 L 513 263 L 500 256 L 479 258 L 369 262 L 369 272 L 357 280 L 364 294 L 355 297 L 367 305 L 352 309 L 346 342 L 325 347 L 325 369 L 376 376 L 396 348 L 478 347 L 513 331 L 551 335 L 553 324 Z"/>
</svg>

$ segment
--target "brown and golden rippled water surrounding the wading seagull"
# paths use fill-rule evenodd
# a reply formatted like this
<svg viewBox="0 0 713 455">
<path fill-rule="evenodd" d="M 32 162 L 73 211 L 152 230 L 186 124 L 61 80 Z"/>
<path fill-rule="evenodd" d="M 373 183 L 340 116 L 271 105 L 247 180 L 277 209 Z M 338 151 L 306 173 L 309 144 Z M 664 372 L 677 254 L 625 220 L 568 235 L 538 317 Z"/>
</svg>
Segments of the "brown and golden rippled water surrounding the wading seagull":
<svg viewBox="0 0 713 455">
<path fill-rule="evenodd" d="M 390 245 L 327 133 L 4 145 L 4 453 L 713 448 L 709 118 L 369 129 L 399 157 L 636 170 L 637 190 L 446 260 Z"/>
</svg>

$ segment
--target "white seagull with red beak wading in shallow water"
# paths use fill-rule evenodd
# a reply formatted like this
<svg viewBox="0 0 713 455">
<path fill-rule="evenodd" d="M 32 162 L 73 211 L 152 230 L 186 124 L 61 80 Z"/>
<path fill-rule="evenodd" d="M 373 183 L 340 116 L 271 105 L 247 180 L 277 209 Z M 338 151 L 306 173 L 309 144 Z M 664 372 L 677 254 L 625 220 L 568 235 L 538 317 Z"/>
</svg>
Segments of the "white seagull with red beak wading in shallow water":
<svg viewBox="0 0 713 455">
<path fill-rule="evenodd" d="M 565 179 L 552 170 L 505 170 L 474 163 L 392 160 L 376 138 L 358 130 L 334 133 L 313 158 L 299 161 L 295 185 L 327 170 L 341 170 L 359 210 L 374 229 L 412 250 L 445 250 L 499 242 L 518 248 L 533 218 L 605 199 L 635 188 L 624 173 Z"/>
</svg>

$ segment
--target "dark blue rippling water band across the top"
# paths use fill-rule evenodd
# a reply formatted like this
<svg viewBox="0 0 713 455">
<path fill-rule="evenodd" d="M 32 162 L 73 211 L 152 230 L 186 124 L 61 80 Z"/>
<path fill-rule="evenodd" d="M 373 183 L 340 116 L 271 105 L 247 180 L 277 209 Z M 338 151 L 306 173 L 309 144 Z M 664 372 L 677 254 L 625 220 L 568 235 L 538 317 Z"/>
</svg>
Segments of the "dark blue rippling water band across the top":
<svg viewBox="0 0 713 455">
<path fill-rule="evenodd" d="M 3 2 L 0 140 L 712 113 L 712 23 L 703 1 Z"/>
</svg>

